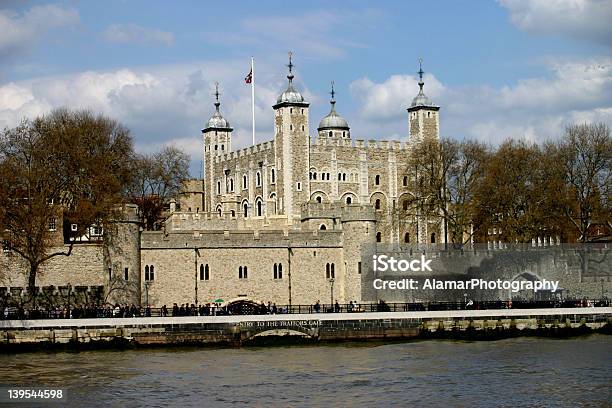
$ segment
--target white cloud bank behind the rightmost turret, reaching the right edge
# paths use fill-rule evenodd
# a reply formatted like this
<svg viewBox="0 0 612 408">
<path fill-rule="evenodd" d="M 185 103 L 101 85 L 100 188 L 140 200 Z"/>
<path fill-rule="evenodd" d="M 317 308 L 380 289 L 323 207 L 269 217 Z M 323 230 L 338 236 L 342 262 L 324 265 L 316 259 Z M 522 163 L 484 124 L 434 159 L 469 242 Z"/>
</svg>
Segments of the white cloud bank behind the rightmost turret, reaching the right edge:
<svg viewBox="0 0 612 408">
<path fill-rule="evenodd" d="M 507 138 L 556 138 L 572 122 L 612 125 L 612 58 L 555 63 L 551 75 L 515 85 L 449 87 L 426 76 L 425 93 L 441 106 L 441 135 L 499 143 Z M 359 134 L 406 137 L 405 108 L 416 95 L 416 78 L 394 75 L 382 83 L 351 84 L 360 102 L 351 123 Z M 357 126 L 356 126 L 357 125 Z M 371 136 L 368 136 L 371 137 Z"/>
</svg>

